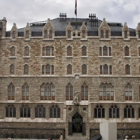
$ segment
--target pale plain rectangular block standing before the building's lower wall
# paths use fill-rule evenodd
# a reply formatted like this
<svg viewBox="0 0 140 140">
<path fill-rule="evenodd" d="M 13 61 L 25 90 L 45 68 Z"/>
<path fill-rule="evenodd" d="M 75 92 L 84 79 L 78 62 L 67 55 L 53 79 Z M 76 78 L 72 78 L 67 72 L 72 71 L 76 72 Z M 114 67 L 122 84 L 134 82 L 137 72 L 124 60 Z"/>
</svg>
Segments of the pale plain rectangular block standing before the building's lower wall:
<svg viewBox="0 0 140 140">
<path fill-rule="evenodd" d="M 100 123 L 100 134 L 103 140 L 117 140 L 117 124 Z"/>
</svg>

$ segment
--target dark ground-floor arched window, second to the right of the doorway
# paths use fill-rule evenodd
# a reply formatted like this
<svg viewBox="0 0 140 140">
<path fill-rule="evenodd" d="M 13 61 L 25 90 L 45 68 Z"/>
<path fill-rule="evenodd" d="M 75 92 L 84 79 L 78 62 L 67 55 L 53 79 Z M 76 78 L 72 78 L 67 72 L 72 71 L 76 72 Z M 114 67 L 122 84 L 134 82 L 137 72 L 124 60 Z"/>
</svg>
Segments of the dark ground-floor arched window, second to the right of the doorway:
<svg viewBox="0 0 140 140">
<path fill-rule="evenodd" d="M 119 118 L 119 117 L 120 117 L 119 108 L 116 105 L 112 105 L 109 108 L 109 118 Z"/>
</svg>

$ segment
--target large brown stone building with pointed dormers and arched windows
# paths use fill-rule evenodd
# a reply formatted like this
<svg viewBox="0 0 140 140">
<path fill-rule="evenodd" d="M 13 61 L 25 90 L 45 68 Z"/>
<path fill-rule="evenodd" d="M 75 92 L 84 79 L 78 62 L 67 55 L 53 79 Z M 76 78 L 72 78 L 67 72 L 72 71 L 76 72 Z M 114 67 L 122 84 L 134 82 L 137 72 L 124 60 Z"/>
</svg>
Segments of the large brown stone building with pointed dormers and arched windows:
<svg viewBox="0 0 140 140">
<path fill-rule="evenodd" d="M 59 18 L 6 31 L 0 20 L 0 137 L 93 137 L 117 122 L 140 138 L 140 24 Z"/>
</svg>

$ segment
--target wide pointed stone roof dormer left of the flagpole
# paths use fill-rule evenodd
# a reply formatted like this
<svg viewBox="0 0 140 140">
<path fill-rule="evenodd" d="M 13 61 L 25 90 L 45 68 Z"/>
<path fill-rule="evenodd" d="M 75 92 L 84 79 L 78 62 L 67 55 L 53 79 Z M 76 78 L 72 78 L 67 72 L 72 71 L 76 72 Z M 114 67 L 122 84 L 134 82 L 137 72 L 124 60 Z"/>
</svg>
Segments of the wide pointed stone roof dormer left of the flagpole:
<svg viewBox="0 0 140 140">
<path fill-rule="evenodd" d="M 51 24 L 50 19 L 48 19 L 47 23 L 42 29 L 43 38 L 54 38 L 55 30 L 53 25 Z"/>
</svg>

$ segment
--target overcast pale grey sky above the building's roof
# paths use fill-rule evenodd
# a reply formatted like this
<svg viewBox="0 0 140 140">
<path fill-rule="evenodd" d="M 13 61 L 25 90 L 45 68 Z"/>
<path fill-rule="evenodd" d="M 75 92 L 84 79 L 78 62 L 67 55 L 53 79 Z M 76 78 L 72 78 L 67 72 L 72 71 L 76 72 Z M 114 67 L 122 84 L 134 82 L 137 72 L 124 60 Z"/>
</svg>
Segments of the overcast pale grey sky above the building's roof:
<svg viewBox="0 0 140 140">
<path fill-rule="evenodd" d="M 95 13 L 101 20 L 127 22 L 131 28 L 140 22 L 140 0 L 77 0 L 77 5 L 78 18 Z M 21 28 L 27 22 L 57 18 L 59 13 L 75 17 L 74 8 L 75 0 L 0 0 L 0 19 L 6 17 L 7 30 L 11 30 L 13 23 Z"/>
</svg>

